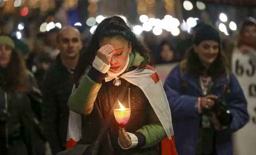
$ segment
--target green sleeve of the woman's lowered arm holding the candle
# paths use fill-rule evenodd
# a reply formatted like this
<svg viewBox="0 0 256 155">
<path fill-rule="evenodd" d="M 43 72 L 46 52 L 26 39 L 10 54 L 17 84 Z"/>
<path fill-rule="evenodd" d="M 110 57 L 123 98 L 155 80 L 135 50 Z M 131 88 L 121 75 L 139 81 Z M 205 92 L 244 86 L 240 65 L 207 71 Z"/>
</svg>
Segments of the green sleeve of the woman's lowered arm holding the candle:
<svg viewBox="0 0 256 155">
<path fill-rule="evenodd" d="M 149 109 L 149 125 L 145 125 L 136 132 L 143 134 L 145 137 L 145 146 L 143 148 L 155 146 L 167 137 L 165 129 L 152 107 Z"/>
</svg>

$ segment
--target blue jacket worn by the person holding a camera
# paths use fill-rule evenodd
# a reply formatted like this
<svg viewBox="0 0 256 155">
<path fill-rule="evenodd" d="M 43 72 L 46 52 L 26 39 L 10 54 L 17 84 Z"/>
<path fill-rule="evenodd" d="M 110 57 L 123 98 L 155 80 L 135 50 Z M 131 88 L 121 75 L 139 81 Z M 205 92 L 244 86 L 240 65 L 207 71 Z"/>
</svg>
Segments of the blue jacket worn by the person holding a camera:
<svg viewBox="0 0 256 155">
<path fill-rule="evenodd" d="M 233 155 L 231 135 L 241 129 L 248 121 L 247 102 L 235 75 L 230 72 L 230 93 L 226 96 L 227 106 L 233 115 L 233 121 L 228 129 L 216 131 L 215 142 L 218 155 Z M 180 78 L 186 82 L 186 95 L 181 94 Z M 165 93 L 171 108 L 175 146 L 178 155 L 195 155 L 199 140 L 200 115 L 196 111 L 198 97 L 203 96 L 202 89 L 191 77 L 187 69 L 180 76 L 178 64 L 167 77 L 164 85 Z M 222 96 L 224 85 L 228 83 L 226 76 L 221 77 L 211 87 L 211 94 Z"/>
</svg>

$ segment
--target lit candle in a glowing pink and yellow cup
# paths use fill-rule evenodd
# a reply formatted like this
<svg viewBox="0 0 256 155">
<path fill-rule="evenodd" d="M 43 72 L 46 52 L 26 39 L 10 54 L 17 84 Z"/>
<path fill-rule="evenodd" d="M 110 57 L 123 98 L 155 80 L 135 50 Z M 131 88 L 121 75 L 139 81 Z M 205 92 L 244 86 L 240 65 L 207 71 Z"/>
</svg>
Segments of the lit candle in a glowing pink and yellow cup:
<svg viewBox="0 0 256 155">
<path fill-rule="evenodd" d="M 118 104 L 120 106 L 120 109 L 114 109 L 114 117 L 117 123 L 120 125 L 120 127 L 124 128 L 125 130 L 125 125 L 128 123 L 130 119 L 131 109 L 124 108 L 124 106 L 119 101 Z"/>
</svg>

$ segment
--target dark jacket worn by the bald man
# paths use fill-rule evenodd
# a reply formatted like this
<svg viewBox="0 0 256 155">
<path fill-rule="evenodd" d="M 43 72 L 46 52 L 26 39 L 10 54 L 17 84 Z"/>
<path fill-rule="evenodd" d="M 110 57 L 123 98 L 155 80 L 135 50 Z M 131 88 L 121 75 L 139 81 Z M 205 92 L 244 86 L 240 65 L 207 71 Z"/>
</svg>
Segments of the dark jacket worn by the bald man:
<svg viewBox="0 0 256 155">
<path fill-rule="evenodd" d="M 53 155 L 65 149 L 68 130 L 68 98 L 72 92 L 72 73 L 62 64 L 60 55 L 43 84 L 42 118 L 45 135 Z"/>
</svg>

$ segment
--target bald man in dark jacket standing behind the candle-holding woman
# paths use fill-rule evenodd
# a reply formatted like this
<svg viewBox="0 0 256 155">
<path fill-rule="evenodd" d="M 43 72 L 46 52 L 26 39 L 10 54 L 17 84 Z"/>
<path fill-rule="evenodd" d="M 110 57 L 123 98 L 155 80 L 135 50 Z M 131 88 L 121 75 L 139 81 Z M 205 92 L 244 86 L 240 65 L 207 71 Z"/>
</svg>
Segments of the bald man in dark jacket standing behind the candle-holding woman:
<svg viewBox="0 0 256 155">
<path fill-rule="evenodd" d="M 57 46 L 60 54 L 55 66 L 45 77 L 42 105 L 43 127 L 53 155 L 66 147 L 69 115 L 67 102 L 82 48 L 80 32 L 72 26 L 62 28 L 58 33 Z"/>
</svg>

